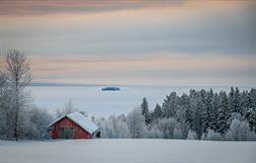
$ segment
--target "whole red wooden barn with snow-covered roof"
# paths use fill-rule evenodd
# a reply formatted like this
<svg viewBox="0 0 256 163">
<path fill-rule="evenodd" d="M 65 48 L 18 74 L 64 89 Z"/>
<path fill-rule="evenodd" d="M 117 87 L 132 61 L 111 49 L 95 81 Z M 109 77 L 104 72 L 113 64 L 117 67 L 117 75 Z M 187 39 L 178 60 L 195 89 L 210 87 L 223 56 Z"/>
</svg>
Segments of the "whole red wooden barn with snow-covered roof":
<svg viewBox="0 0 256 163">
<path fill-rule="evenodd" d="M 62 116 L 48 125 L 51 138 L 93 138 L 98 126 L 78 112 Z"/>
</svg>

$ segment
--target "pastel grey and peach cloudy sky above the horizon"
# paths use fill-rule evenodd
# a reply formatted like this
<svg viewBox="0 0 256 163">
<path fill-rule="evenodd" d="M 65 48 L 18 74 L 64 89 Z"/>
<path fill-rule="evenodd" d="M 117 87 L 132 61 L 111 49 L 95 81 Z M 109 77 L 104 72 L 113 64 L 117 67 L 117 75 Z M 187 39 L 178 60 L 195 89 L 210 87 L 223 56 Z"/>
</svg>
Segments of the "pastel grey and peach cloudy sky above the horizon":
<svg viewBox="0 0 256 163">
<path fill-rule="evenodd" d="M 0 0 L 0 48 L 34 82 L 255 86 L 256 1 Z"/>
</svg>

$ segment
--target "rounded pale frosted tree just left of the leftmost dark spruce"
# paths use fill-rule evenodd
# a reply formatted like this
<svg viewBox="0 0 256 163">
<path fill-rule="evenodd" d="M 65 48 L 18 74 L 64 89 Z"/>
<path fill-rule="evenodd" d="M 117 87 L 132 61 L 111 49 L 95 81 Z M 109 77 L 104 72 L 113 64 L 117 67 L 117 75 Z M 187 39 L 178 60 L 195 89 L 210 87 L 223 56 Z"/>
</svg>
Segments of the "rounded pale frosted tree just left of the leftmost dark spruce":
<svg viewBox="0 0 256 163">
<path fill-rule="evenodd" d="M 127 124 L 131 138 L 145 137 L 145 119 L 141 115 L 140 109 L 135 108 L 128 114 Z"/>
</svg>

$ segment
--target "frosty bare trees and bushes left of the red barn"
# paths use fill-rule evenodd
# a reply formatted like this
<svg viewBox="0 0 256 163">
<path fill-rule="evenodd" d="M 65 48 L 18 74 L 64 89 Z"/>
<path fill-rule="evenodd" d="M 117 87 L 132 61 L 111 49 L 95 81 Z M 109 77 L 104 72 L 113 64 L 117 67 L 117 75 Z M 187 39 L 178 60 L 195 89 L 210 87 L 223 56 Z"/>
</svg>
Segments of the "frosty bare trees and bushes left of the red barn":
<svg viewBox="0 0 256 163">
<path fill-rule="evenodd" d="M 33 105 L 26 89 L 32 80 L 28 58 L 15 49 L 5 59 L 6 69 L 0 71 L 0 139 L 42 138 L 52 116 Z"/>
</svg>

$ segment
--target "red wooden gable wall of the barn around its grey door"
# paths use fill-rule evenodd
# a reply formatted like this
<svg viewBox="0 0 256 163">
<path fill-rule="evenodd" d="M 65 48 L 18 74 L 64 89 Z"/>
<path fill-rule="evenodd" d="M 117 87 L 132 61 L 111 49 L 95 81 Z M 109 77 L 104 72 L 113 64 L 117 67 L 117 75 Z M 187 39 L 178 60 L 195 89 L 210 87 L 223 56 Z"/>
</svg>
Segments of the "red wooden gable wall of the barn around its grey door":
<svg viewBox="0 0 256 163">
<path fill-rule="evenodd" d="M 81 128 L 79 125 L 77 125 L 75 122 L 72 122 L 71 120 L 64 118 L 61 119 L 58 122 L 55 122 L 52 125 L 51 129 L 51 138 L 58 138 L 58 127 L 60 126 L 70 126 L 73 127 L 74 130 L 74 136 L 73 138 L 91 138 L 91 134 L 85 131 L 83 128 Z"/>
</svg>

